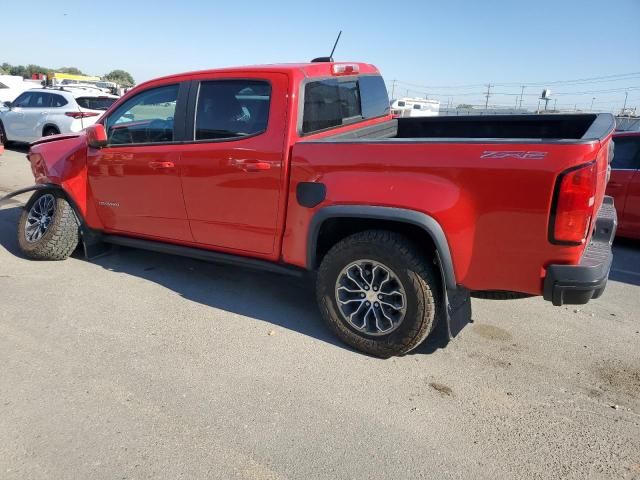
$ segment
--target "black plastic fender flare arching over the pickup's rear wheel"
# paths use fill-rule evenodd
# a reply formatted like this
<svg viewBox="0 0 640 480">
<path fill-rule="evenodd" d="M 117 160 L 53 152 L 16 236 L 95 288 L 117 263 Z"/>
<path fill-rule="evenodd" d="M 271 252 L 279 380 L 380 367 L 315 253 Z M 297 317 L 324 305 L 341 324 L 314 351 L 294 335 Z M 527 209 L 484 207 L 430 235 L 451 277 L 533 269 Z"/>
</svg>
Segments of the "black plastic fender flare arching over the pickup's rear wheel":
<svg viewBox="0 0 640 480">
<path fill-rule="evenodd" d="M 371 205 L 332 205 L 319 209 L 309 225 L 307 239 L 307 268 L 316 265 L 316 248 L 318 234 L 323 222 L 329 218 L 368 218 L 375 220 L 390 220 L 416 225 L 427 232 L 436 246 L 438 258 L 442 268 L 443 278 L 448 290 L 458 288 L 449 243 L 440 224 L 429 215 L 415 210 L 395 207 L 378 207 Z"/>
</svg>

